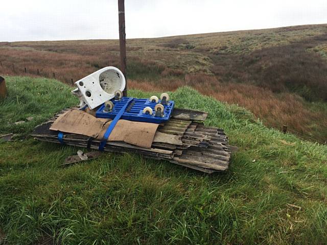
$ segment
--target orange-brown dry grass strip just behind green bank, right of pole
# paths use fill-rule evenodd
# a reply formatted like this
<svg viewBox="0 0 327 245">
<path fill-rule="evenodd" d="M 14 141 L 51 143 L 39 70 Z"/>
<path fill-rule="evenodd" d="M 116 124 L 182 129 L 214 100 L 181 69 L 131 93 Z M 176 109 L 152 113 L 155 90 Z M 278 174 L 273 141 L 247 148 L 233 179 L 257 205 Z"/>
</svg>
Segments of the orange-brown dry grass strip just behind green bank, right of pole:
<svg viewBox="0 0 327 245">
<path fill-rule="evenodd" d="M 222 83 L 205 74 L 186 75 L 184 80 L 162 78 L 153 83 L 129 81 L 131 88 L 144 91 L 174 91 L 185 85 L 219 101 L 245 107 L 269 127 L 282 129 L 287 125 L 288 131 L 303 138 L 326 141 L 327 108 L 310 107 L 296 94 L 276 94 L 255 85 Z"/>
</svg>

